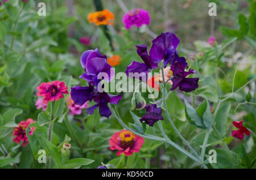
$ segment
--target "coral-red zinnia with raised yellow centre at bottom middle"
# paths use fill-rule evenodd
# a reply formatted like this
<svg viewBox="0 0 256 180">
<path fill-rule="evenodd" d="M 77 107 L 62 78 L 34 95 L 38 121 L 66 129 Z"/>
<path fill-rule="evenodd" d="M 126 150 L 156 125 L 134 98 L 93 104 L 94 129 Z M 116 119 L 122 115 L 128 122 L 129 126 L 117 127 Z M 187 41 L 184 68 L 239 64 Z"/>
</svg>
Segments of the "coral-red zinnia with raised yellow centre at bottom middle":
<svg viewBox="0 0 256 180">
<path fill-rule="evenodd" d="M 133 134 L 129 130 L 122 130 L 115 132 L 115 134 L 110 138 L 109 149 L 119 150 L 117 152 L 117 156 L 122 153 L 125 153 L 125 156 L 131 156 L 133 155 L 133 152 L 139 152 L 143 143 L 144 138 Z"/>
</svg>

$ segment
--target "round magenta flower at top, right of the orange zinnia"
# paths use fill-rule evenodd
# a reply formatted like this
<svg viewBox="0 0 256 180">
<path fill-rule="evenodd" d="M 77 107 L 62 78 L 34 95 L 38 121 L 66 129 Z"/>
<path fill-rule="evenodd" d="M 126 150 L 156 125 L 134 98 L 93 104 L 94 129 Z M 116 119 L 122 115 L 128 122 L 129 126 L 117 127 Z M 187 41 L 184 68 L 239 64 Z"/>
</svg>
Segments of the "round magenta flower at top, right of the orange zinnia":
<svg viewBox="0 0 256 180">
<path fill-rule="evenodd" d="M 143 24 L 150 24 L 150 14 L 142 8 L 133 9 L 123 15 L 122 22 L 126 29 L 130 29 L 133 25 L 139 28 Z"/>
</svg>

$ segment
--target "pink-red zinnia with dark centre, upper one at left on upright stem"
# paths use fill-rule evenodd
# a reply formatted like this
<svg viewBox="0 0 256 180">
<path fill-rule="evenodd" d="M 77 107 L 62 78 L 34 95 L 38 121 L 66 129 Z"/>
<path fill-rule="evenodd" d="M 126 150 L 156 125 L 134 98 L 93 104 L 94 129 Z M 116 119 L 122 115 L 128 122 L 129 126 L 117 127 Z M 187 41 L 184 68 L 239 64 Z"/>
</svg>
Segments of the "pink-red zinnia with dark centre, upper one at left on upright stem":
<svg viewBox="0 0 256 180">
<path fill-rule="evenodd" d="M 57 101 L 63 98 L 63 94 L 68 94 L 68 87 L 64 82 L 56 80 L 55 82 L 41 83 L 36 89 L 36 95 L 44 97 L 43 103 L 48 104 L 48 101 Z"/>
</svg>

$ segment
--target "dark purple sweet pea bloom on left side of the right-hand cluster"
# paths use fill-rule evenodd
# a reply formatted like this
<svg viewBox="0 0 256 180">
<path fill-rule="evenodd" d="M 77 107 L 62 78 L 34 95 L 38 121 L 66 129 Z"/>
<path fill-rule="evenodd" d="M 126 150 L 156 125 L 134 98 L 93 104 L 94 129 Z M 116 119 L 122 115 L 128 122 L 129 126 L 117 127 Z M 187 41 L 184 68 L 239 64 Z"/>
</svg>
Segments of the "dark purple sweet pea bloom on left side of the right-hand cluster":
<svg viewBox="0 0 256 180">
<path fill-rule="evenodd" d="M 152 59 L 150 55 L 147 53 L 147 46 L 146 45 L 137 45 L 137 54 L 142 58 L 143 62 L 136 62 L 133 61 L 129 66 L 127 66 L 126 75 L 129 76 L 129 72 L 135 73 L 138 72 L 138 74 L 141 74 L 141 72 L 144 73 L 141 74 L 142 76 L 146 76 L 147 73 L 152 69 L 157 69 L 158 64 L 152 62 Z M 138 78 L 138 77 L 135 77 Z"/>
</svg>

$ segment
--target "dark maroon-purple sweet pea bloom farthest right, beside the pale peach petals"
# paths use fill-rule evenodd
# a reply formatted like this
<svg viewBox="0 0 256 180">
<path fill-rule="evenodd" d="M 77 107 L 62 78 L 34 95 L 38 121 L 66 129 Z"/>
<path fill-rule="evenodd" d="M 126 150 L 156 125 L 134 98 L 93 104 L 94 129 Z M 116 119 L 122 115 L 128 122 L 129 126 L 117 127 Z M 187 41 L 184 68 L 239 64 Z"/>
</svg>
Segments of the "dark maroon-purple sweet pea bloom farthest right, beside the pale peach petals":
<svg viewBox="0 0 256 180">
<path fill-rule="evenodd" d="M 186 78 L 189 74 L 196 74 L 196 70 L 190 69 L 185 71 L 185 67 L 180 62 L 175 62 L 171 66 L 171 71 L 174 78 L 172 78 L 172 88 L 170 91 L 179 87 L 180 91 L 191 92 L 199 87 L 199 78 Z"/>
</svg>

